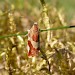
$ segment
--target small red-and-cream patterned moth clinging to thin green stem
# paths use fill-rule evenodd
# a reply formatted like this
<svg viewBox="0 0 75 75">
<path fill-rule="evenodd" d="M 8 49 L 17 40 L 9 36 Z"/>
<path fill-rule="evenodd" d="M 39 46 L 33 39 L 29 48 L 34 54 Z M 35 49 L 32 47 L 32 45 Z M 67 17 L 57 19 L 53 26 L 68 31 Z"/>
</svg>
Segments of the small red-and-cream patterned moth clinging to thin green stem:
<svg viewBox="0 0 75 75">
<path fill-rule="evenodd" d="M 37 56 L 39 52 L 39 29 L 35 22 L 30 30 L 28 30 L 28 56 Z"/>
</svg>

